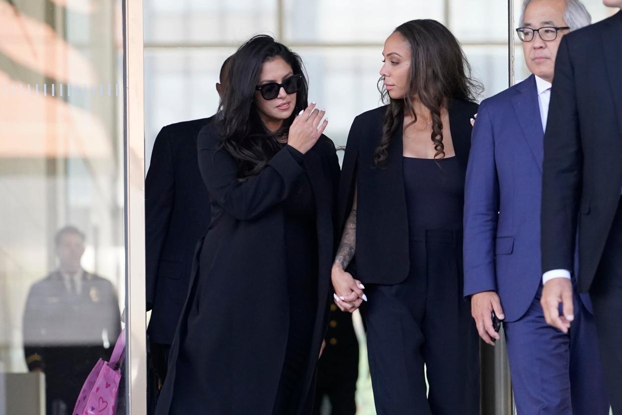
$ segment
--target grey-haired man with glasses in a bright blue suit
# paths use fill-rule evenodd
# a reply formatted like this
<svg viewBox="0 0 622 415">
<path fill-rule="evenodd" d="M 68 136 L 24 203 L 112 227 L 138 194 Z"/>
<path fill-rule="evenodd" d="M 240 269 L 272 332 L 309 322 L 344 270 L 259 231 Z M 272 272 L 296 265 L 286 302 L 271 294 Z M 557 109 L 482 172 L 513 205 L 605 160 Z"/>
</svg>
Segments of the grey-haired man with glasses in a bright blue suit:
<svg viewBox="0 0 622 415">
<path fill-rule="evenodd" d="M 608 414 L 587 297 L 575 296 L 570 333 L 546 324 L 540 254 L 544 128 L 562 36 L 590 24 L 578 0 L 526 0 L 517 29 L 532 75 L 484 100 L 466 172 L 465 296 L 480 337 L 503 320 L 519 414 Z"/>
</svg>

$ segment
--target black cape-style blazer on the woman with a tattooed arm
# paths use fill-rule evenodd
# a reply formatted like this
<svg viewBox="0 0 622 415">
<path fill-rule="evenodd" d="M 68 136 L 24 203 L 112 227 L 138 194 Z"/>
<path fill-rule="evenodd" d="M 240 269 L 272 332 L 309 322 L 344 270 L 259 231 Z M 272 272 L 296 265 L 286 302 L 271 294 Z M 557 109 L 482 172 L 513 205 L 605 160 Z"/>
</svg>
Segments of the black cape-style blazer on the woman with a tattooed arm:
<svg viewBox="0 0 622 415">
<path fill-rule="evenodd" d="M 385 108 L 383 106 L 373 110 L 373 113 L 364 113 L 364 117 L 361 114 L 357 117 L 358 123 L 355 119 L 358 131 L 361 131 L 360 136 L 374 138 L 373 140 L 363 141 L 358 137 L 348 137 L 348 146 L 358 146 L 358 149 L 346 151 L 343 159 L 338 229 L 345 226 L 352 208 L 353 189 L 358 182 L 356 254 L 348 271 L 354 271 L 363 283 L 399 284 L 406 279 L 410 269 L 402 163 L 388 163 L 384 169 L 376 168 L 373 164 L 374 149 L 383 135 Z M 453 147 L 458 162 L 465 171 L 471 142 L 460 138 L 470 138 L 471 125 L 465 123 L 464 119 L 468 121 L 472 118 L 477 108 L 475 103 L 459 100 L 452 101 L 449 106 Z M 394 141 L 389 146 L 389 159 L 402 159 L 402 134 L 394 134 Z M 387 183 L 394 185 L 388 186 Z M 386 212 L 391 214 L 387 215 Z"/>
</svg>

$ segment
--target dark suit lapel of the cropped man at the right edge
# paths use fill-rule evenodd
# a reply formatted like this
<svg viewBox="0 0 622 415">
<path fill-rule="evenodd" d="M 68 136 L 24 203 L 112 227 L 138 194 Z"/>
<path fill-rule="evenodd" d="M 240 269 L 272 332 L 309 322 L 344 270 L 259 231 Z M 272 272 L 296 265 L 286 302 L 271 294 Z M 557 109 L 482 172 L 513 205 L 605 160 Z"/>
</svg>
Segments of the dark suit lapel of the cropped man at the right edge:
<svg viewBox="0 0 622 415">
<path fill-rule="evenodd" d="M 618 118 L 618 129 L 622 136 L 622 11 L 611 17 L 610 24 L 602 32 L 603 48 L 611 94 L 615 103 L 615 111 Z"/>
</svg>

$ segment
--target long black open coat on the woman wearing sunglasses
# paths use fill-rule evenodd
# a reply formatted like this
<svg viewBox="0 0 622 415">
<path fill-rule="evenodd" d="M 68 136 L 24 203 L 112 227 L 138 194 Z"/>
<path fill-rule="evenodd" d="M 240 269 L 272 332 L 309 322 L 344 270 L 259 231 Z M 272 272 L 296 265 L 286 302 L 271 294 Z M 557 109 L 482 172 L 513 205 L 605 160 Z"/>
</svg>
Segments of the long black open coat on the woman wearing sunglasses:
<svg viewBox="0 0 622 415">
<path fill-rule="evenodd" d="M 238 167 L 211 126 L 199 134 L 198 149 L 212 220 L 197 252 L 200 269 L 192 277 L 156 413 L 271 415 L 288 336 L 281 202 L 302 166 L 284 148 L 259 175 L 235 186 Z M 339 164 L 325 136 L 303 158 L 315 198 L 319 257 L 317 314 L 304 375 L 310 392 L 327 323 Z M 309 392 L 297 414 L 311 412 Z"/>
</svg>

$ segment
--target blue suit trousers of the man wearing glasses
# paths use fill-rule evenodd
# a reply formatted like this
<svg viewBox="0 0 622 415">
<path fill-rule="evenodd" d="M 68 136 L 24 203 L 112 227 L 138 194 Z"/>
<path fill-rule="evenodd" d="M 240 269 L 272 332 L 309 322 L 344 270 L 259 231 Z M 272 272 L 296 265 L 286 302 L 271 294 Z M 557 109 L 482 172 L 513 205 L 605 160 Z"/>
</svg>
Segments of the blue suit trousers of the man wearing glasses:
<svg viewBox="0 0 622 415">
<path fill-rule="evenodd" d="M 575 320 L 562 333 L 545 322 L 541 292 L 519 320 L 503 325 L 518 414 L 609 414 L 594 317 L 575 289 Z"/>
</svg>

